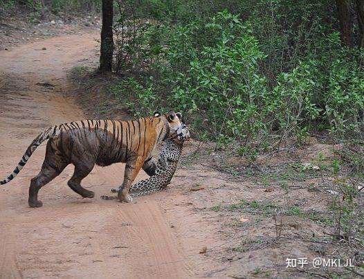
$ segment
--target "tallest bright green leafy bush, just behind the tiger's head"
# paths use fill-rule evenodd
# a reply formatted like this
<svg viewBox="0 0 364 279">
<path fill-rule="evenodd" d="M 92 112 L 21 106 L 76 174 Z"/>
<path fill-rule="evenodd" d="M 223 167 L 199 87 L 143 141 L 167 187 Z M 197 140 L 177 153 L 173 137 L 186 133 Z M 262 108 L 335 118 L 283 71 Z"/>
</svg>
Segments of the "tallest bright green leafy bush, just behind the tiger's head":
<svg viewBox="0 0 364 279">
<path fill-rule="evenodd" d="M 207 39 L 194 47 L 197 33 L 207 34 Z M 170 102 L 208 118 L 215 139 L 232 136 L 252 141 L 264 127 L 268 111 L 266 80 L 258 71 L 264 54 L 248 26 L 228 12 L 219 12 L 207 24 L 173 35 L 177 38 L 172 37 L 172 42 L 190 46 L 167 49 L 163 76 L 172 84 Z M 181 49 L 187 53 L 183 55 Z"/>
</svg>

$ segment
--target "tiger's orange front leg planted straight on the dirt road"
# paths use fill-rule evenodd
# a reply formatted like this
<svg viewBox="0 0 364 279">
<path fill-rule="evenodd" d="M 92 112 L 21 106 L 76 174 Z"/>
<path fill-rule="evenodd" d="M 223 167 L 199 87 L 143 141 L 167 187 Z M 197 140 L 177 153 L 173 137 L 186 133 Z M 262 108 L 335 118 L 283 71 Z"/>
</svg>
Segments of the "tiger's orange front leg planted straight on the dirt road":
<svg viewBox="0 0 364 279">
<path fill-rule="evenodd" d="M 133 199 L 129 195 L 129 189 L 131 184 L 134 182 L 136 175 L 142 168 L 144 160 L 141 156 L 138 156 L 135 160 L 128 160 L 125 165 L 124 181 L 118 191 L 119 201 L 131 202 Z"/>
</svg>

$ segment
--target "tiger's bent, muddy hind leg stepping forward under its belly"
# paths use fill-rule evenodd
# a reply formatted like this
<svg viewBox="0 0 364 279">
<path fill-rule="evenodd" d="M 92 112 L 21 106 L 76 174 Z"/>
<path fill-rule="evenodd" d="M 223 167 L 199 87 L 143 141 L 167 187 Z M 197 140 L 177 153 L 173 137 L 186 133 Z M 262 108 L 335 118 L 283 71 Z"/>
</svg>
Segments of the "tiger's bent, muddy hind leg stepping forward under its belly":
<svg viewBox="0 0 364 279">
<path fill-rule="evenodd" d="M 95 163 L 76 163 L 73 176 L 71 177 L 71 179 L 69 179 L 69 182 L 67 183 L 69 185 L 69 188 L 77 192 L 78 195 L 81 195 L 82 197 L 95 197 L 94 192 L 86 190 L 81 186 L 82 179 L 89 175 L 94 165 Z"/>
</svg>

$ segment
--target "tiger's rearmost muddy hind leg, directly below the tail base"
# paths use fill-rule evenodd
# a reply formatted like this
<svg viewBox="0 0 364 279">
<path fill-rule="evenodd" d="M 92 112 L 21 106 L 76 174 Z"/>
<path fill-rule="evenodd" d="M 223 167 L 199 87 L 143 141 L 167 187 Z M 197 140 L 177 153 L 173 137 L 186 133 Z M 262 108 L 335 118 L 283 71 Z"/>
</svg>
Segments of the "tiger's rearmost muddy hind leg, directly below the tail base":
<svg viewBox="0 0 364 279">
<path fill-rule="evenodd" d="M 41 207 L 42 201 L 38 200 L 40 188 L 57 177 L 66 166 L 69 165 L 64 157 L 55 151 L 53 141 L 49 140 L 46 147 L 46 156 L 42 169 L 36 177 L 30 181 L 28 204 L 30 207 Z"/>
</svg>

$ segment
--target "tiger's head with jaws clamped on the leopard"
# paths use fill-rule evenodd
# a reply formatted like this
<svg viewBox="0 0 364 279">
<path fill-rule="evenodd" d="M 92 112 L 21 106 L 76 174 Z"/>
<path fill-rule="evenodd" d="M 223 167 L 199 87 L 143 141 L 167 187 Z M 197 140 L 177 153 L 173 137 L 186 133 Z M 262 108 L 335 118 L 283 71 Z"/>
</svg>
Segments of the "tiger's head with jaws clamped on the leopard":
<svg viewBox="0 0 364 279">
<path fill-rule="evenodd" d="M 180 112 L 169 111 L 167 114 L 161 115 L 158 112 L 154 113 L 154 117 L 165 118 L 169 128 L 169 132 L 165 138 L 176 138 L 179 141 L 187 141 L 190 138 L 190 131 L 183 121 Z"/>
</svg>

